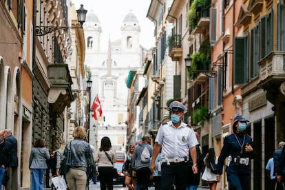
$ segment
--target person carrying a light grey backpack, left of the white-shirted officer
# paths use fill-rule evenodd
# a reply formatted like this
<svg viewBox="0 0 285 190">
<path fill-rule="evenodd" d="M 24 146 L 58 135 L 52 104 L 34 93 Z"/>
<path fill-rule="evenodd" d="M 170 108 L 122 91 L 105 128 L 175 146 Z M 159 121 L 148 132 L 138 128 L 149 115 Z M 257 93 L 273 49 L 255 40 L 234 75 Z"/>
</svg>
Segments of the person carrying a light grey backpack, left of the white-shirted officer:
<svg viewBox="0 0 285 190">
<path fill-rule="evenodd" d="M 133 176 L 136 176 L 136 189 L 138 190 L 148 189 L 152 150 L 153 147 L 149 145 L 149 136 L 147 135 L 142 137 L 142 142 L 139 142 L 134 149 L 131 167 L 133 168 Z"/>
</svg>

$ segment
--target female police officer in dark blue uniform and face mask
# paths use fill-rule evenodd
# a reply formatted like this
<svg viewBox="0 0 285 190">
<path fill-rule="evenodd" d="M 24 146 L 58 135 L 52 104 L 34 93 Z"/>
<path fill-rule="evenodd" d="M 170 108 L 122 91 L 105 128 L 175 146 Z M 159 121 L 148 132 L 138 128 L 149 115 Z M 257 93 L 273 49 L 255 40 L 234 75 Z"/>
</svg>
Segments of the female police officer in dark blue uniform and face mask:
<svg viewBox="0 0 285 190">
<path fill-rule="evenodd" d="M 245 118 L 237 115 L 233 120 L 234 133 L 224 138 L 224 146 L 218 159 L 217 180 L 220 181 L 224 160 L 228 157 L 226 177 L 229 182 L 229 190 L 247 190 L 250 184 L 251 159 L 254 158 L 253 141 L 244 130 L 247 127 Z"/>
</svg>

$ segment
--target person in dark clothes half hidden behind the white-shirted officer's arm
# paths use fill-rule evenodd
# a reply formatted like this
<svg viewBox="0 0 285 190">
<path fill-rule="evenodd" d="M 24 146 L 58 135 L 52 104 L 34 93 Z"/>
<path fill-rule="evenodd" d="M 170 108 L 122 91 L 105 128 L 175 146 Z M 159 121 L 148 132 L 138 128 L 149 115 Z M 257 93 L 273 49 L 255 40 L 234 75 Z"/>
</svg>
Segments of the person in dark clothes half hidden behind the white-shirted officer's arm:
<svg viewBox="0 0 285 190">
<path fill-rule="evenodd" d="M 199 142 L 199 134 L 197 131 L 195 131 L 195 135 L 196 135 L 196 138 Z M 200 150 L 200 144 L 196 145 L 196 154 L 197 154 L 197 173 L 193 173 L 192 171 L 192 165 L 193 165 L 193 161 L 191 159 L 191 157 L 189 158 L 189 177 L 188 177 L 188 180 L 187 180 L 187 188 L 186 190 L 196 190 L 198 189 L 198 186 L 200 184 L 200 177 L 201 177 L 201 172 L 202 172 L 202 169 L 203 169 L 203 156 L 202 156 L 202 153 L 201 153 L 201 150 Z"/>
</svg>

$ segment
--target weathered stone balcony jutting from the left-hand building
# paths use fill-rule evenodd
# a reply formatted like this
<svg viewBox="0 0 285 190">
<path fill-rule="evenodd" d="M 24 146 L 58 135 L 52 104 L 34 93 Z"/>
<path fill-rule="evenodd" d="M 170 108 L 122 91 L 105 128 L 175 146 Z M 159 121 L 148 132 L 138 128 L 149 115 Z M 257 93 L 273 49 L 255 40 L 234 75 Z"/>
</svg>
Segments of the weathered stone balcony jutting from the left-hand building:
<svg viewBox="0 0 285 190">
<path fill-rule="evenodd" d="M 50 90 L 47 102 L 52 106 L 52 112 L 61 114 L 65 107 L 70 107 L 74 101 L 72 94 L 72 78 L 67 64 L 52 64 L 47 69 L 47 76 L 50 79 Z"/>
</svg>

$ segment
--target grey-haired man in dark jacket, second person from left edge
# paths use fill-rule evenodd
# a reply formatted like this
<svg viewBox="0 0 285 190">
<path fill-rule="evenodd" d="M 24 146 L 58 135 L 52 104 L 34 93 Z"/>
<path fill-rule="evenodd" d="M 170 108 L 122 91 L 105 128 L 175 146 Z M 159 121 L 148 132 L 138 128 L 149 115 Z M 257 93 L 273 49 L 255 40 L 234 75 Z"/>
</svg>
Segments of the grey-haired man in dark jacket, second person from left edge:
<svg viewBox="0 0 285 190">
<path fill-rule="evenodd" d="M 18 142 L 17 139 L 12 136 L 12 129 L 5 129 L 4 130 L 5 140 L 11 143 L 11 156 L 12 160 L 9 163 L 8 167 L 8 176 L 9 180 L 7 182 L 6 189 L 10 190 L 17 190 L 18 189 L 18 156 L 17 156 L 17 146 Z"/>
</svg>

